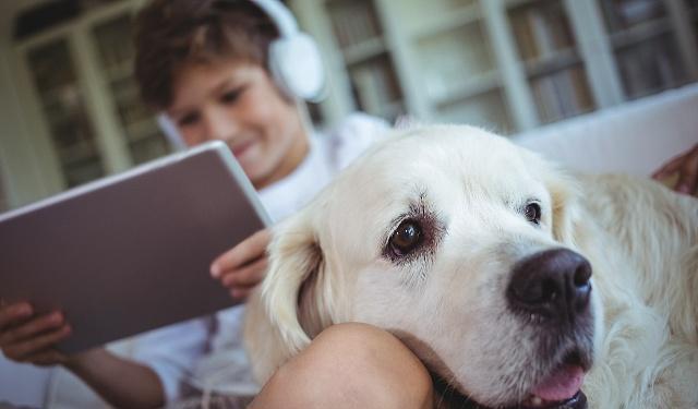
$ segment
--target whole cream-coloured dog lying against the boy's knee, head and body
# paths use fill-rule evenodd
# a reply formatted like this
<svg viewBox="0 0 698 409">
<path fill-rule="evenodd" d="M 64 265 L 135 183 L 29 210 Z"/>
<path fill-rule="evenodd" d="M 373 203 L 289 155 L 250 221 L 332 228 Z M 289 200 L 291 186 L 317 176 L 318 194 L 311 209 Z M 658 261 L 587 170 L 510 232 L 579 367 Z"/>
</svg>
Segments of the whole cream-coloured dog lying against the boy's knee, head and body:
<svg viewBox="0 0 698 409">
<path fill-rule="evenodd" d="M 698 407 L 698 201 L 650 180 L 573 178 L 479 129 L 413 129 L 269 252 L 245 324 L 261 383 L 323 328 L 363 322 L 482 407 Z"/>
</svg>

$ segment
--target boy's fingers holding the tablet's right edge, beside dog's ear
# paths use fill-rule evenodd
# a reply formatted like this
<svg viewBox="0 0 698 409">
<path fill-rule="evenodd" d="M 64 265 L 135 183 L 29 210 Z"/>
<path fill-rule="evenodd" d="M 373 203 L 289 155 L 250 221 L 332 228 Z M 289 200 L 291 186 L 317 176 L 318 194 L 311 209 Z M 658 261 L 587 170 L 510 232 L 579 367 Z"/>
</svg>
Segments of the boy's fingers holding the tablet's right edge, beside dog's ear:
<svg viewBox="0 0 698 409">
<path fill-rule="evenodd" d="M 272 240 L 269 229 L 260 230 L 219 255 L 210 265 L 210 275 L 236 299 L 245 299 L 266 274 L 266 246 Z"/>
</svg>

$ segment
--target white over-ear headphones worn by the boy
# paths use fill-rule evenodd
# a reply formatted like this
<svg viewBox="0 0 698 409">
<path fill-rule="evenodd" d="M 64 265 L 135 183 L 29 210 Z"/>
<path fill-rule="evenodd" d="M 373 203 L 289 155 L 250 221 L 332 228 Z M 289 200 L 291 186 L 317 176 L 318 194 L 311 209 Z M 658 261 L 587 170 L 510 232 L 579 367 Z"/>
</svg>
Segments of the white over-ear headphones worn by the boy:
<svg viewBox="0 0 698 409">
<path fill-rule="evenodd" d="M 269 44 L 268 64 L 274 82 L 291 98 L 317 101 L 326 94 L 325 68 L 317 45 L 311 36 L 298 28 L 298 23 L 279 0 L 229 0 L 250 1 L 262 10 L 279 32 Z M 165 113 L 157 122 L 170 144 L 177 149 L 186 147 L 177 125 Z"/>
</svg>

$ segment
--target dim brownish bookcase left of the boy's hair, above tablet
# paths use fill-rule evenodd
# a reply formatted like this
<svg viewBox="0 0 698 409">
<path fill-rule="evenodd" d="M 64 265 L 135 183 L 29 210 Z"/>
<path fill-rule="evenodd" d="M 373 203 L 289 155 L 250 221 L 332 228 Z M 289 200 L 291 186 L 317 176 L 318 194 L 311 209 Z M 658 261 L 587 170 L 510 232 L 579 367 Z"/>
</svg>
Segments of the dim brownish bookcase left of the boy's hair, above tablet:
<svg viewBox="0 0 698 409">
<path fill-rule="evenodd" d="M 80 15 L 15 43 L 20 99 L 48 141 L 43 166 L 58 169 L 50 192 L 169 152 L 133 79 L 131 33 L 140 0 L 83 4 Z M 88 7 L 89 5 L 89 7 Z"/>
</svg>

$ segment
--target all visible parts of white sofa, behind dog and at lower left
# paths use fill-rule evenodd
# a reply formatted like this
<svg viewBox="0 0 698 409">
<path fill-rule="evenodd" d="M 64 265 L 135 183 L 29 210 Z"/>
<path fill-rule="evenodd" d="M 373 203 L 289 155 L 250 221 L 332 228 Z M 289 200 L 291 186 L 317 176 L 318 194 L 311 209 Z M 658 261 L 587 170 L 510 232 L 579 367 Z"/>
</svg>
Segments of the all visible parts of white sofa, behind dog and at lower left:
<svg viewBox="0 0 698 409">
<path fill-rule="evenodd" d="M 585 172 L 650 175 L 698 143 L 698 84 L 537 129 L 514 139 Z M 136 340 L 110 346 L 129 356 Z M 43 408 L 107 407 L 61 369 L 16 365 L 0 357 L 0 402 Z"/>
</svg>

